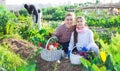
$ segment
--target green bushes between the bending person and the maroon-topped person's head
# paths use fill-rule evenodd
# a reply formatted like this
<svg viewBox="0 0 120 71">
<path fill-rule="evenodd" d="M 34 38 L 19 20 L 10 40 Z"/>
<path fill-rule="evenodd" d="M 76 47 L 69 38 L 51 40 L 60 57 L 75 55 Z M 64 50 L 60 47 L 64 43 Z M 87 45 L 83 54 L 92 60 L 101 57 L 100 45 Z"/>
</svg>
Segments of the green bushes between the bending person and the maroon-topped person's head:
<svg viewBox="0 0 120 71">
<path fill-rule="evenodd" d="M 66 15 L 67 11 L 64 7 L 49 7 L 42 9 L 43 11 L 43 19 L 44 20 L 64 20 L 64 16 Z"/>
</svg>

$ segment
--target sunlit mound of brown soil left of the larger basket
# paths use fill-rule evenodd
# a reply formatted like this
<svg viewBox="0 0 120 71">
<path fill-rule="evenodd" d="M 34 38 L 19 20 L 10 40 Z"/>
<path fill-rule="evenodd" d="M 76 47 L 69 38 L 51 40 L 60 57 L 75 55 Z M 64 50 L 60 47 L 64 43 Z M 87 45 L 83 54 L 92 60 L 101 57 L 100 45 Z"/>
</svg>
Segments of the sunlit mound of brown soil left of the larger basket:
<svg viewBox="0 0 120 71">
<path fill-rule="evenodd" d="M 9 38 L 0 40 L 0 44 L 8 45 L 9 49 L 16 54 L 20 55 L 23 59 L 30 58 L 31 55 L 37 50 L 37 47 L 32 43 L 20 40 L 17 38 Z"/>
</svg>

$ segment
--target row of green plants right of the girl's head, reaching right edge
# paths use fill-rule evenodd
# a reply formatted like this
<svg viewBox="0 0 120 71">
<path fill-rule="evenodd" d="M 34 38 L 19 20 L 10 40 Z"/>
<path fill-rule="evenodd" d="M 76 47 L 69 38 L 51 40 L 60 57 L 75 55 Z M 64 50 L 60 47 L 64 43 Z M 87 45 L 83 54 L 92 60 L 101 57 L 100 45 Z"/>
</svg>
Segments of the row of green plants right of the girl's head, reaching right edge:
<svg viewBox="0 0 120 71">
<path fill-rule="evenodd" d="M 120 26 L 120 16 L 112 17 L 94 17 L 94 16 L 85 16 L 87 19 L 88 26 L 104 27 L 110 28 Z"/>
</svg>

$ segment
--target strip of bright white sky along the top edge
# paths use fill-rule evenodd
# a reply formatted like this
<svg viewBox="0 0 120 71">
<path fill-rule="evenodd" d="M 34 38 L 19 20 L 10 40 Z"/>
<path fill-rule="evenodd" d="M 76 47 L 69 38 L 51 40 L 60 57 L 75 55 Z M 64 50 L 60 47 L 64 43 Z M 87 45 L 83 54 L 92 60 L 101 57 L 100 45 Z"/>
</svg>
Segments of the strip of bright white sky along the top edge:
<svg viewBox="0 0 120 71">
<path fill-rule="evenodd" d="M 21 5 L 24 3 L 31 3 L 31 4 L 74 4 L 74 3 L 85 3 L 85 2 L 95 2 L 96 0 L 6 0 L 6 4 L 7 5 L 13 5 L 13 4 L 17 4 L 17 5 Z M 120 0 L 100 0 L 101 3 L 118 3 L 120 2 Z"/>
</svg>

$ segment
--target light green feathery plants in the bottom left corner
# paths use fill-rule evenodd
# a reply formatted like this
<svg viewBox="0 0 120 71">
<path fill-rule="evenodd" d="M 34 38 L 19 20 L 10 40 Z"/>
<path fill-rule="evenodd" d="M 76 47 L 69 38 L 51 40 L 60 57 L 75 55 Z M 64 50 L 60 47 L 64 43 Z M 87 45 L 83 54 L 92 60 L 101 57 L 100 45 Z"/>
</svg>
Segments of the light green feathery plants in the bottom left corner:
<svg viewBox="0 0 120 71">
<path fill-rule="evenodd" d="M 26 65 L 18 55 L 8 50 L 7 46 L 0 45 L 0 66 L 8 71 L 15 71 L 22 65 Z"/>
</svg>

